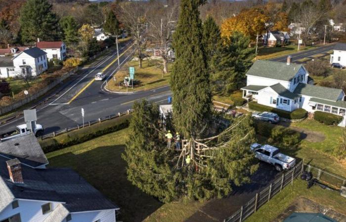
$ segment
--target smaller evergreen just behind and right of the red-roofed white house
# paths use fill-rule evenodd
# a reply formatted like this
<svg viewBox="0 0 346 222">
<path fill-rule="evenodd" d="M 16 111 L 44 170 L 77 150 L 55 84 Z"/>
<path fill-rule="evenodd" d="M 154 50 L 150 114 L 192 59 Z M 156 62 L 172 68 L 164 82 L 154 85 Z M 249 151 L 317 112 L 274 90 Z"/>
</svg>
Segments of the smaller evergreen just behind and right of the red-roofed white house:
<svg viewBox="0 0 346 222">
<path fill-rule="evenodd" d="M 63 39 L 67 44 L 74 44 L 78 42 L 78 22 L 73 16 L 62 17 L 59 21 Z"/>
</svg>

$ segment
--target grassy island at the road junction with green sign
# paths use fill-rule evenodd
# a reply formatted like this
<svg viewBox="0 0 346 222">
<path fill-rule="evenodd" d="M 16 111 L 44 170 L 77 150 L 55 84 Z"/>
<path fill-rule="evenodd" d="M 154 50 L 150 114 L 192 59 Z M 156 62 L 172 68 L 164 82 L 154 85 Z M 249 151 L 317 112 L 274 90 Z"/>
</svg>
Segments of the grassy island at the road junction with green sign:
<svg viewBox="0 0 346 222">
<path fill-rule="evenodd" d="M 139 69 L 138 61 L 131 60 L 126 63 L 123 68 L 115 74 L 116 82 L 113 78 L 108 81 L 107 88 L 116 92 L 126 92 L 126 87 L 119 88 L 119 82 L 124 81 L 125 76 L 129 76 L 129 67 L 134 67 L 134 78 L 139 80 L 139 85 L 134 86 L 133 89 L 128 87 L 129 92 L 139 90 L 150 90 L 160 86 L 168 85 L 171 77 L 171 70 L 173 63 L 168 64 L 168 74 L 162 76 L 162 70 L 156 65 L 157 60 L 144 60 L 142 62 L 142 69 Z"/>
</svg>

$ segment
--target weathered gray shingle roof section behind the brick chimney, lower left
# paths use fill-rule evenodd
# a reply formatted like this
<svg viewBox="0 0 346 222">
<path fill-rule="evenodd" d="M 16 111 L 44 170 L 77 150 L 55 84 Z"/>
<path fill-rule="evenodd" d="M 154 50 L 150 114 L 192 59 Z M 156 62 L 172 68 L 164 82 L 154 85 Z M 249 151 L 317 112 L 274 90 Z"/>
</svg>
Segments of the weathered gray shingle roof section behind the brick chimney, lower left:
<svg viewBox="0 0 346 222">
<path fill-rule="evenodd" d="M 34 168 L 48 164 L 48 160 L 33 133 L 1 141 L 0 156 L 7 159 L 18 158 L 21 163 Z"/>
</svg>

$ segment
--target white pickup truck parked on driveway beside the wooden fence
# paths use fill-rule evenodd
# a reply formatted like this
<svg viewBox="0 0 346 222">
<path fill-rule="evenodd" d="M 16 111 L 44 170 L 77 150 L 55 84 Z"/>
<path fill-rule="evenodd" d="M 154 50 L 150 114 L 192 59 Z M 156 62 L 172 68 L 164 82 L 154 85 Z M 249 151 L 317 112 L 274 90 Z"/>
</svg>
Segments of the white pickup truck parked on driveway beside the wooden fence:
<svg viewBox="0 0 346 222">
<path fill-rule="evenodd" d="M 251 150 L 255 152 L 256 158 L 264 162 L 270 163 L 275 167 L 275 170 L 289 170 L 296 165 L 296 159 L 285 154 L 282 154 L 276 147 L 270 145 L 252 144 Z"/>
</svg>

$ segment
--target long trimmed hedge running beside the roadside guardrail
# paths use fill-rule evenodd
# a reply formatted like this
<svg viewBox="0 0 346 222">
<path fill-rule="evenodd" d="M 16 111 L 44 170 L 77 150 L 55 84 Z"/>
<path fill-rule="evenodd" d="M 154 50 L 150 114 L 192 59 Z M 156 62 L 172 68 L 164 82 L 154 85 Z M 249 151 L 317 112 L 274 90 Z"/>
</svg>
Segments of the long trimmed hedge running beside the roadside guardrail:
<svg viewBox="0 0 346 222">
<path fill-rule="evenodd" d="M 58 149 L 70 147 L 121 129 L 125 129 L 130 124 L 130 115 L 124 115 L 115 119 L 107 120 L 101 123 L 71 131 L 54 138 L 40 140 L 39 143 L 44 153 Z"/>
</svg>

